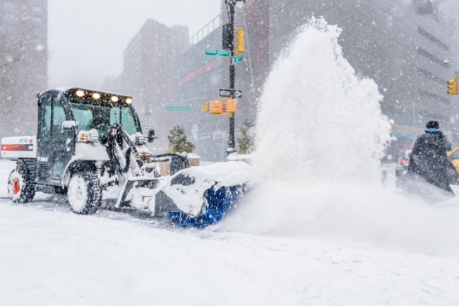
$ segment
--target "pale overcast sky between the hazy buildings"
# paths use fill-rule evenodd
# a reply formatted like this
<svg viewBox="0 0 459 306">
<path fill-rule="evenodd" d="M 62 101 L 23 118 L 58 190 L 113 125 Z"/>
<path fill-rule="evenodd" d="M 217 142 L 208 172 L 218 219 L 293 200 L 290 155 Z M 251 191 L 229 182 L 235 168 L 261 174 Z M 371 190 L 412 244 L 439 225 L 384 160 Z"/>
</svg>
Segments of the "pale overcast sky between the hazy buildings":
<svg viewBox="0 0 459 306">
<path fill-rule="evenodd" d="M 222 0 L 48 0 L 49 88 L 100 88 L 118 76 L 123 51 L 146 19 L 187 25 L 190 35 Z"/>
</svg>

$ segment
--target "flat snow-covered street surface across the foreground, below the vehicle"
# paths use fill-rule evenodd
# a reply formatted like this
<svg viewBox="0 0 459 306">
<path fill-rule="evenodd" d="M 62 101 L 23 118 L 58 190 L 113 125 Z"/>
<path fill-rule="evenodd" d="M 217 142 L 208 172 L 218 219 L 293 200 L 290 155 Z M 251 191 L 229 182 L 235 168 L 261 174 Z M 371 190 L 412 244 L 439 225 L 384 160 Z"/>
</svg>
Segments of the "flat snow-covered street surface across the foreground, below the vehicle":
<svg viewBox="0 0 459 306">
<path fill-rule="evenodd" d="M 6 196 L 12 164 L 0 165 Z M 253 227 L 224 222 L 179 230 L 165 220 L 112 211 L 80 216 L 63 201 L 44 194 L 30 204 L 1 199 L 2 305 L 459 303 L 457 245 L 417 250 L 378 237 L 337 235 L 330 224 L 310 224 L 310 234 L 300 228 L 295 234 L 297 223 L 282 223 L 285 217 L 278 228 L 260 233 L 254 228 L 262 220 Z M 443 209 L 459 216 L 458 206 Z M 338 216 L 316 217 L 339 223 Z"/>
</svg>

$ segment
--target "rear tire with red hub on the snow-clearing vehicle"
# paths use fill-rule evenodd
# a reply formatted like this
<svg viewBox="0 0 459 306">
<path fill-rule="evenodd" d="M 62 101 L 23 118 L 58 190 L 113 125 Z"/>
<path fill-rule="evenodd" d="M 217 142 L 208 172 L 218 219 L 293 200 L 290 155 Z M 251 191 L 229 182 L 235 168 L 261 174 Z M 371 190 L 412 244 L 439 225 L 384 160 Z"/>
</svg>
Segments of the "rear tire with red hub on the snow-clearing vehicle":
<svg viewBox="0 0 459 306">
<path fill-rule="evenodd" d="M 18 166 L 8 177 L 8 195 L 11 201 L 27 203 L 35 196 L 35 187 L 28 182 L 28 175 L 23 167 Z"/>
</svg>

